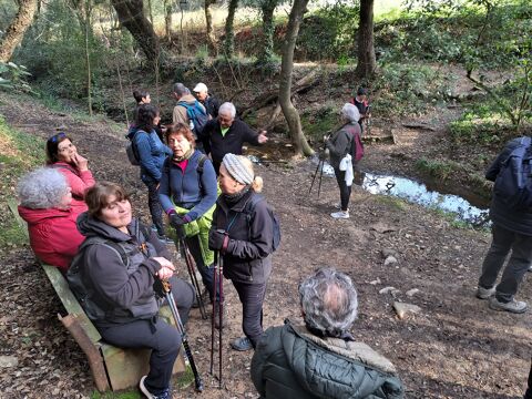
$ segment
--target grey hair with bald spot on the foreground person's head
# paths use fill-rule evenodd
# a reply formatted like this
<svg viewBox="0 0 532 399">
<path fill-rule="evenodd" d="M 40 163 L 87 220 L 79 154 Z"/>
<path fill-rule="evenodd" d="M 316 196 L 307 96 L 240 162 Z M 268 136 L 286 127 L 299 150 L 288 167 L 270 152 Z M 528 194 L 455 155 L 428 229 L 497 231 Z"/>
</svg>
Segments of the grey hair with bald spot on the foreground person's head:
<svg viewBox="0 0 532 399">
<path fill-rule="evenodd" d="M 351 278 L 334 268 L 320 268 L 299 285 L 307 327 L 324 336 L 341 337 L 357 318 L 358 299 Z"/>
</svg>

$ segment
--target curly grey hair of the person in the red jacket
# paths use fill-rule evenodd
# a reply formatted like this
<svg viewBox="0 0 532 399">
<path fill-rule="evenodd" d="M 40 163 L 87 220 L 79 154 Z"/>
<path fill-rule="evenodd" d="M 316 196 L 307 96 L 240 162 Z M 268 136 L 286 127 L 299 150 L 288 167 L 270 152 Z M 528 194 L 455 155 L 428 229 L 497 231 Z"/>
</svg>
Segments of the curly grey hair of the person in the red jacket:
<svg viewBox="0 0 532 399">
<path fill-rule="evenodd" d="M 41 167 L 22 176 L 17 187 L 20 205 L 47 209 L 61 204 L 69 184 L 64 175 L 52 167 Z"/>
</svg>

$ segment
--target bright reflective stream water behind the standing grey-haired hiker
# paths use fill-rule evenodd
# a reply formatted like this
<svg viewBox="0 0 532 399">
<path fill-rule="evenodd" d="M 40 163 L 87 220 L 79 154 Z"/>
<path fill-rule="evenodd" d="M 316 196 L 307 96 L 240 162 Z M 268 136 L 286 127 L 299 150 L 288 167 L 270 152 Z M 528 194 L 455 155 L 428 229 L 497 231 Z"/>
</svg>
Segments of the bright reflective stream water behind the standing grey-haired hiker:
<svg viewBox="0 0 532 399">
<path fill-rule="evenodd" d="M 314 160 L 314 164 L 317 167 L 317 158 Z M 324 163 L 324 175 L 335 176 L 332 166 L 327 162 Z M 451 213 L 456 215 L 457 221 L 467 222 L 473 226 L 485 226 L 489 224 L 485 204 L 483 204 L 484 206 L 474 206 L 462 196 L 429 190 L 426 184 L 410 178 L 389 174 L 365 173 L 362 188 L 371 194 L 396 196 L 428 208 Z"/>
</svg>

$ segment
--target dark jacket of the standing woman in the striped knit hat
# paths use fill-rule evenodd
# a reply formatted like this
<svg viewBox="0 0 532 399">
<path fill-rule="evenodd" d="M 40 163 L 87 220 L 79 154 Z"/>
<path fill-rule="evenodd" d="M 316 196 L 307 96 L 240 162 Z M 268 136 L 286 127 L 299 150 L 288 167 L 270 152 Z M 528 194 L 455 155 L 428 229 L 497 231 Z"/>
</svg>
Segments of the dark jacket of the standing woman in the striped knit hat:
<svg viewBox="0 0 532 399">
<path fill-rule="evenodd" d="M 224 254 L 224 276 L 235 282 L 262 284 L 272 273 L 274 224 L 265 200 L 256 203 L 250 214 L 246 204 L 256 196 L 249 190 L 235 204 L 218 197 L 211 232 L 227 231 L 229 244 Z"/>
</svg>

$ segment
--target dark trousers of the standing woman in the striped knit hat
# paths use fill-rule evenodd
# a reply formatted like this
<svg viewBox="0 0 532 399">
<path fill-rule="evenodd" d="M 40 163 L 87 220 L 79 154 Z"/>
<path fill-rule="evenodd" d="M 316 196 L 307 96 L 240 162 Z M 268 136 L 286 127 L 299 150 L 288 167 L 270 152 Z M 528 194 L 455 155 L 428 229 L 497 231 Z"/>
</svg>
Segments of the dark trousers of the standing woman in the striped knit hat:
<svg viewBox="0 0 532 399">
<path fill-rule="evenodd" d="M 255 348 L 263 335 L 263 303 L 266 294 L 266 283 L 233 282 L 233 285 L 242 303 L 242 329 Z"/>
</svg>

